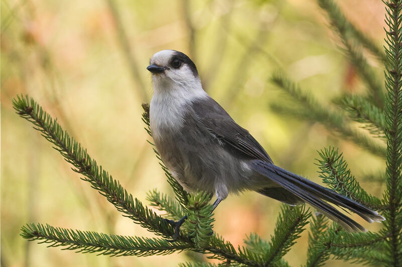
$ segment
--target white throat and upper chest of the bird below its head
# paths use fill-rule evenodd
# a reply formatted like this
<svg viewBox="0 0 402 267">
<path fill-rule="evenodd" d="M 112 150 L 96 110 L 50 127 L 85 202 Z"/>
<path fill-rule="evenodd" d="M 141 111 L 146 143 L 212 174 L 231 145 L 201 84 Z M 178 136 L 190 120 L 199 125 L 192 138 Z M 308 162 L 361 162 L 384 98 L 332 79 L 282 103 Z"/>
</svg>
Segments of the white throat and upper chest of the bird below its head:
<svg viewBox="0 0 402 267">
<path fill-rule="evenodd" d="M 154 94 L 149 117 L 154 140 L 161 139 L 161 131 L 176 132 L 184 123 L 186 107 L 197 99 L 208 98 L 198 78 L 179 83 L 166 77 L 152 75 Z"/>
</svg>

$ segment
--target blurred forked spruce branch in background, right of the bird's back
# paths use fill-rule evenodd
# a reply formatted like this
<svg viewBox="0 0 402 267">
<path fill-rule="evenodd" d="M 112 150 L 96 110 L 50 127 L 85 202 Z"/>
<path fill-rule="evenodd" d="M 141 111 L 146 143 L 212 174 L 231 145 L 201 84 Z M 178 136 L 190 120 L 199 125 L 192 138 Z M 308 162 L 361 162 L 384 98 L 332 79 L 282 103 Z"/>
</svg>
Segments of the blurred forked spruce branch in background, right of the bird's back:
<svg viewBox="0 0 402 267">
<path fill-rule="evenodd" d="M 371 140 L 367 135 L 353 129 L 350 126 L 350 121 L 345 119 L 342 114 L 331 111 L 328 107 L 324 107 L 311 95 L 302 92 L 297 84 L 290 81 L 283 74 L 274 73 L 271 77 L 271 81 L 304 107 L 303 109 L 294 109 L 285 108 L 283 105 L 271 105 L 275 111 L 298 116 L 312 122 L 319 122 L 330 132 L 335 130 L 363 149 L 381 157 L 385 156 L 385 148 L 381 144 L 373 142 L 374 140 Z"/>
</svg>

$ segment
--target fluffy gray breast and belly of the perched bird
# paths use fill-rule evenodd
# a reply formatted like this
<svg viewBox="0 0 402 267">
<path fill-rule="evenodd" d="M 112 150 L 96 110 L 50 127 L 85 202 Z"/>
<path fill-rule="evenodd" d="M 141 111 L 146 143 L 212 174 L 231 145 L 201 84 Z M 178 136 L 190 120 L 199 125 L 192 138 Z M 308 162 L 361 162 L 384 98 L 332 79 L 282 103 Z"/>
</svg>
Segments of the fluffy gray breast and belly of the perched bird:
<svg viewBox="0 0 402 267">
<path fill-rule="evenodd" d="M 213 136 L 200 124 L 188 105 L 180 128 L 161 127 L 155 140 L 162 160 L 175 179 L 188 191 L 197 189 L 226 198 L 229 192 L 246 189 L 251 175 L 243 158 Z"/>
</svg>

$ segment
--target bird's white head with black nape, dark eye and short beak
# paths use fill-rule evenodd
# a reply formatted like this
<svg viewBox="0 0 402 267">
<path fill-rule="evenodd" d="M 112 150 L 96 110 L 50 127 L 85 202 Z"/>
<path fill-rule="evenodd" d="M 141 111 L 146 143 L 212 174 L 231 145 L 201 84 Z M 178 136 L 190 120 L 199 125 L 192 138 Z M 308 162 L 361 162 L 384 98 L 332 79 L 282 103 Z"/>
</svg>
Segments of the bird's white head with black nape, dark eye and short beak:
<svg viewBox="0 0 402 267">
<path fill-rule="evenodd" d="M 152 73 L 155 91 L 159 88 L 200 86 L 194 62 L 182 52 L 162 50 L 155 53 L 149 63 L 147 69 Z"/>
</svg>

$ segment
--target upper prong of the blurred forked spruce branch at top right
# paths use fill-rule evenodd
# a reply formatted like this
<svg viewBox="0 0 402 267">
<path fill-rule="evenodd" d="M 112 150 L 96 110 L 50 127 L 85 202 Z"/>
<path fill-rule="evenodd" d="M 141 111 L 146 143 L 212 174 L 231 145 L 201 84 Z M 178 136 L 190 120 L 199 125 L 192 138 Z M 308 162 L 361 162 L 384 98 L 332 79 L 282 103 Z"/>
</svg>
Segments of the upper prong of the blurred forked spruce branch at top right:
<svg viewBox="0 0 402 267">
<path fill-rule="evenodd" d="M 386 56 L 381 47 L 377 46 L 374 40 L 366 36 L 363 32 L 356 28 L 349 20 L 346 19 L 338 5 L 332 0 L 318 0 L 319 6 L 328 14 L 331 25 L 338 31 L 342 32 L 342 38 L 355 38 L 362 46 L 370 51 L 381 62 L 386 61 Z"/>
</svg>

